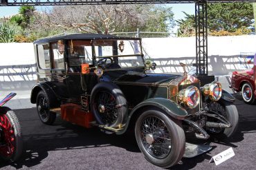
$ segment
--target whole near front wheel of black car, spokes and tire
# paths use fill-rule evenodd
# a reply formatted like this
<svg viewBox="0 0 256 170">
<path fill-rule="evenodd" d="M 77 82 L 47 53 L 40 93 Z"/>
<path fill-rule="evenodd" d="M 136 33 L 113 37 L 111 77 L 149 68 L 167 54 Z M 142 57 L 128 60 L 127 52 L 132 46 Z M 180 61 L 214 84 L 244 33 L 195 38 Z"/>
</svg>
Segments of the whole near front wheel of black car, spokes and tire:
<svg viewBox="0 0 256 170">
<path fill-rule="evenodd" d="M 185 134 L 181 123 L 161 110 L 145 110 L 136 121 L 135 135 L 145 158 L 158 167 L 172 167 L 183 157 Z"/>
</svg>

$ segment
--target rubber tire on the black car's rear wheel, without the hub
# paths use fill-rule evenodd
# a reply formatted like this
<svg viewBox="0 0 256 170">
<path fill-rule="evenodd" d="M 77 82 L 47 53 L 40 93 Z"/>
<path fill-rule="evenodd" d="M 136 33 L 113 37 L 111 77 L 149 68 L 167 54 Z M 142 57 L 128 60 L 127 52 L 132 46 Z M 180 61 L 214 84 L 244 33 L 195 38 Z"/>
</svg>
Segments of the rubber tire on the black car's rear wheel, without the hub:
<svg viewBox="0 0 256 170">
<path fill-rule="evenodd" d="M 46 118 L 43 118 L 42 113 L 40 113 L 40 110 L 42 109 L 42 106 L 41 108 L 39 107 L 40 98 L 44 98 L 46 102 L 46 106 L 44 107 Z M 53 111 L 50 111 L 50 102 L 48 100 L 48 96 L 44 93 L 44 91 L 40 91 L 37 94 L 37 114 L 42 123 L 46 125 L 53 125 L 53 123 L 55 122 L 56 114 Z"/>
</svg>

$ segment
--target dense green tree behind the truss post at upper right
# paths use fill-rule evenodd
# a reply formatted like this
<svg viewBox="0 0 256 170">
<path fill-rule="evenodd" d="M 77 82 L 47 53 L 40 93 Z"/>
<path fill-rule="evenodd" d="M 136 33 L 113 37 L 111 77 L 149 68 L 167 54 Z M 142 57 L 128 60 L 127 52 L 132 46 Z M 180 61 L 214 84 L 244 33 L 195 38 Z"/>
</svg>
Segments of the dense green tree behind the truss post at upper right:
<svg viewBox="0 0 256 170">
<path fill-rule="evenodd" d="M 185 13 L 185 12 L 184 12 Z M 179 25 L 180 36 L 192 36 L 188 34 L 185 25 L 194 27 L 194 14 L 185 13 L 185 19 L 176 21 Z M 251 3 L 208 3 L 208 29 L 210 32 L 248 32 L 253 24 L 253 6 Z M 188 29 L 187 29 L 188 30 Z M 242 31 L 241 31 L 242 30 Z M 194 32 L 194 29 L 190 32 Z M 236 33 L 237 34 L 237 33 Z"/>
</svg>

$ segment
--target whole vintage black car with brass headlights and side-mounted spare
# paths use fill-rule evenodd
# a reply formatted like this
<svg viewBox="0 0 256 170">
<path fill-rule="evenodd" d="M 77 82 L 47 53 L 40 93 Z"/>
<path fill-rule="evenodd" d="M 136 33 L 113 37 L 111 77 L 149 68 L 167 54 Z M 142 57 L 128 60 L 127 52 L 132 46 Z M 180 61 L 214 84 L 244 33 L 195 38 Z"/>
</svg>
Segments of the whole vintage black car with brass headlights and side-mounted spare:
<svg viewBox="0 0 256 170">
<path fill-rule="evenodd" d="M 66 34 L 35 41 L 38 83 L 31 92 L 42 123 L 56 113 L 107 134 L 135 132 L 145 158 L 171 167 L 185 152 L 185 134 L 229 138 L 238 113 L 235 98 L 213 81 L 203 87 L 188 75 L 150 73 L 139 38 Z M 181 64 L 185 67 L 185 65 Z"/>
</svg>

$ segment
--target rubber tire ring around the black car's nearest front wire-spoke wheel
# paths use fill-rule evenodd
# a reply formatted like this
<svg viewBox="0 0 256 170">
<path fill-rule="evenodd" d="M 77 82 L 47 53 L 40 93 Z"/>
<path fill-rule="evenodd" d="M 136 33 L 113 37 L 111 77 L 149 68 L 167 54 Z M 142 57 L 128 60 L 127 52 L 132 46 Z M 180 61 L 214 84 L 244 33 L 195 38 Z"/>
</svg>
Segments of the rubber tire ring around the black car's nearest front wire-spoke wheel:
<svg viewBox="0 0 256 170">
<path fill-rule="evenodd" d="M 157 118 L 160 118 L 165 123 L 168 131 L 170 132 L 172 149 L 165 158 L 156 158 L 152 156 L 143 145 L 140 127 L 143 123 L 144 118 L 147 118 L 147 116 L 156 116 Z M 160 109 L 149 108 L 143 111 L 143 113 L 138 117 L 138 120 L 136 120 L 135 136 L 138 147 L 140 148 L 140 151 L 144 154 L 145 158 L 158 167 L 172 167 L 177 164 L 184 155 L 185 133 L 181 126 L 181 122 L 179 120 L 171 120 L 164 113 L 164 111 L 161 111 Z"/>
</svg>

